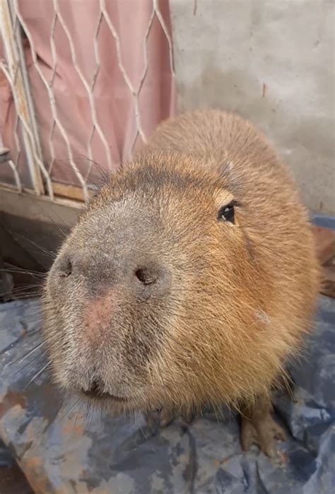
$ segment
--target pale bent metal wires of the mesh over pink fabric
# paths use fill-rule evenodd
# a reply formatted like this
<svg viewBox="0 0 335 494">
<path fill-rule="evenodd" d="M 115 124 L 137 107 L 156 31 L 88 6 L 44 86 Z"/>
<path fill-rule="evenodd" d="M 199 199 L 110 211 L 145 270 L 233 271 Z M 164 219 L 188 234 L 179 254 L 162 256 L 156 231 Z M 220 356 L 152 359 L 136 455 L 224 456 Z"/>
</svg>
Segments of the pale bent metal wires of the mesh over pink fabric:
<svg viewBox="0 0 335 494">
<path fill-rule="evenodd" d="M 108 0 L 107 0 L 108 1 Z M 144 143 L 146 142 L 146 134 L 143 130 L 142 124 L 142 114 L 139 105 L 139 96 L 141 94 L 141 89 L 143 87 L 143 82 L 146 79 L 148 73 L 148 37 L 151 33 L 151 28 L 153 26 L 153 21 L 157 18 L 160 28 L 163 30 L 165 37 L 167 38 L 167 43 L 170 49 L 170 69 L 172 76 L 174 76 L 173 70 L 173 59 L 172 59 L 172 40 L 165 25 L 165 21 L 162 13 L 160 12 L 160 8 L 157 0 L 152 0 L 152 10 L 150 14 L 150 18 L 148 20 L 148 25 L 146 27 L 146 31 L 143 37 L 143 71 L 141 72 L 141 76 L 139 78 L 139 82 L 134 83 L 131 82 L 131 78 L 129 73 L 127 73 L 126 66 L 124 65 L 124 60 L 122 59 L 122 40 L 117 33 L 117 29 L 113 23 L 113 19 L 110 16 L 110 13 L 107 10 L 106 0 L 97 0 L 98 16 L 95 19 L 92 19 L 91 22 L 96 26 L 95 33 L 92 40 L 93 45 L 93 54 L 94 54 L 94 68 L 92 71 L 92 76 L 90 80 L 88 77 L 84 75 L 83 69 L 78 62 L 78 54 L 76 53 L 76 43 L 74 42 L 75 33 L 71 31 L 70 25 L 67 23 L 66 18 L 61 13 L 61 9 L 59 8 L 59 1 L 52 0 L 53 14 L 51 21 L 51 29 L 49 34 L 49 43 L 52 54 L 52 67 L 51 67 L 51 76 L 47 78 L 45 76 L 45 72 L 42 71 L 40 61 L 37 57 L 37 51 L 35 47 L 34 37 L 32 33 L 30 33 L 29 26 L 25 22 L 25 18 L 23 17 L 20 11 L 20 3 L 18 0 L 3 0 L 2 4 L 4 4 L 1 9 L 1 30 L 2 37 L 4 39 L 4 45 L 6 45 L 6 60 L 1 61 L 1 69 L 6 75 L 8 82 L 13 91 L 13 98 L 16 106 L 16 126 L 14 129 L 14 141 L 16 143 L 16 150 L 11 150 L 11 162 L 8 162 L 9 167 L 11 168 L 16 186 L 19 190 L 22 190 L 22 180 L 19 176 L 18 172 L 18 160 L 22 155 L 22 149 L 25 151 L 25 155 L 28 157 L 28 166 L 30 167 L 30 177 L 32 178 L 32 182 L 34 184 L 34 189 L 36 194 L 48 194 L 50 199 L 54 199 L 54 189 L 53 189 L 53 176 L 52 170 L 54 163 L 57 158 L 55 155 L 55 146 L 54 146 L 54 137 L 55 134 L 59 134 L 61 140 L 64 142 L 64 146 L 66 148 L 66 154 L 68 158 L 68 162 L 71 165 L 71 169 L 77 177 L 77 180 L 83 190 L 84 199 L 88 200 L 89 192 L 88 192 L 88 176 L 90 174 L 91 167 L 94 167 L 93 160 L 93 138 L 97 135 L 102 143 L 102 149 L 105 152 L 105 163 L 109 170 L 112 170 L 115 163 L 113 163 L 110 142 L 108 142 L 108 138 L 105 134 L 105 131 L 102 129 L 101 124 L 98 119 L 98 112 L 96 107 L 94 89 L 95 84 L 98 78 L 98 73 L 101 69 L 100 57 L 99 57 L 99 47 L 98 47 L 98 37 L 102 27 L 102 23 L 107 26 L 107 29 L 110 31 L 112 35 L 112 39 L 114 40 L 114 47 L 116 49 L 117 55 L 117 64 L 119 66 L 119 71 L 122 74 L 122 78 L 124 81 L 124 86 L 129 90 L 131 94 L 132 105 L 134 109 L 134 124 L 136 126 L 136 131 L 134 135 L 134 140 L 130 143 L 131 153 L 134 151 L 134 147 L 136 146 L 136 141 L 141 139 Z M 1 4 L 1 5 L 2 5 Z M 11 18 L 8 20 L 5 17 L 5 11 L 10 11 Z M 4 23 L 9 22 L 11 24 L 11 29 L 4 29 Z M 69 139 L 68 131 L 64 126 L 64 122 L 61 121 L 61 117 L 59 114 L 59 108 L 57 106 L 57 100 L 55 98 L 54 93 L 54 80 L 57 74 L 57 40 L 55 36 L 55 30 L 57 25 L 61 26 L 63 30 L 66 40 L 69 43 L 69 54 L 71 57 L 71 64 L 74 66 L 76 74 L 78 75 L 83 88 L 85 89 L 89 109 L 90 109 L 90 128 L 89 128 L 89 138 L 86 138 L 86 142 L 83 143 L 86 146 L 86 152 L 88 156 L 88 160 L 90 161 L 90 170 L 84 176 L 83 172 L 78 169 L 75 160 L 75 151 L 71 148 L 71 139 Z M 50 107 L 50 133 L 49 133 L 49 142 L 47 143 L 49 149 L 48 153 L 45 153 L 49 156 L 49 159 L 42 155 L 40 140 L 38 136 L 38 123 L 36 124 L 35 119 L 33 117 L 33 100 L 34 98 L 38 98 L 38 95 L 33 94 L 30 88 L 28 74 L 25 70 L 25 64 L 22 60 L 23 57 L 23 44 L 22 37 L 18 36 L 18 31 L 16 28 L 22 28 L 25 36 L 28 39 L 31 59 L 33 64 L 33 69 L 35 73 L 42 81 L 42 85 L 47 91 L 49 107 Z M 8 46 L 11 46 L 10 52 L 8 52 Z M 18 94 L 20 91 L 20 94 Z M 27 108 L 27 112 L 23 111 L 22 105 L 20 105 L 20 100 L 22 99 L 21 93 L 25 95 L 25 106 Z M 76 115 L 74 116 L 74 119 Z M 74 126 L 76 126 L 76 122 L 74 121 Z M 20 133 L 23 134 L 23 139 L 20 139 Z M 84 139 L 84 138 L 83 138 Z M 131 138 L 132 139 L 132 138 Z M 40 179 L 38 181 L 38 177 L 42 177 L 43 180 Z M 43 182 L 46 185 L 46 190 L 43 187 Z"/>
</svg>

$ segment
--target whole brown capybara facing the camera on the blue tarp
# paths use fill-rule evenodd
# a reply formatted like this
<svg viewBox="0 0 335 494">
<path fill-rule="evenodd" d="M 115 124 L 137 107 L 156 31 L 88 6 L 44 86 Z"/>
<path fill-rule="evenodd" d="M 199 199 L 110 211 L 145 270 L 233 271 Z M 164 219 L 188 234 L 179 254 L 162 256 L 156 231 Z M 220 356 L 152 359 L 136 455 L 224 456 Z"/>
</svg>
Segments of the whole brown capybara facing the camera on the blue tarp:
<svg viewBox="0 0 335 494">
<path fill-rule="evenodd" d="M 162 423 L 242 412 L 242 447 L 283 437 L 271 387 L 311 324 L 307 212 L 264 136 L 216 110 L 163 122 L 88 205 L 47 277 L 54 380 Z"/>
</svg>

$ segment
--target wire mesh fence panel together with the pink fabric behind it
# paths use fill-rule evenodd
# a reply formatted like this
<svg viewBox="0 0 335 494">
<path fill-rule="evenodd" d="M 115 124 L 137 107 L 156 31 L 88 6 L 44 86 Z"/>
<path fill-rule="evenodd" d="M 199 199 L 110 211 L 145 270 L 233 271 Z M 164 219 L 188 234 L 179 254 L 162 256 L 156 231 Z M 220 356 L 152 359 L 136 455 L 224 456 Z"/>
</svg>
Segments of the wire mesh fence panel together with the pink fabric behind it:
<svg viewBox="0 0 335 494">
<path fill-rule="evenodd" d="M 0 182 L 88 199 L 175 110 L 168 0 L 3 0 Z"/>
</svg>

